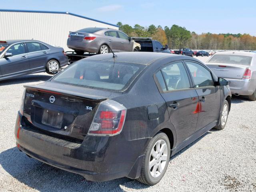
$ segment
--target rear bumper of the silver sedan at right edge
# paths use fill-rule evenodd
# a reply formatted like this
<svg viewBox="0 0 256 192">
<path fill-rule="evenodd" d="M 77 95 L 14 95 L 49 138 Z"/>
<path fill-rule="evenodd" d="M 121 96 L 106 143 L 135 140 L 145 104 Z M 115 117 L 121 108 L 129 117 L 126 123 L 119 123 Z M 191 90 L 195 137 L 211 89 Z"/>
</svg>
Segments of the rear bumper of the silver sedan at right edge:
<svg viewBox="0 0 256 192">
<path fill-rule="evenodd" d="M 256 79 L 228 79 L 229 87 L 232 94 L 252 95 L 256 89 Z"/>
</svg>

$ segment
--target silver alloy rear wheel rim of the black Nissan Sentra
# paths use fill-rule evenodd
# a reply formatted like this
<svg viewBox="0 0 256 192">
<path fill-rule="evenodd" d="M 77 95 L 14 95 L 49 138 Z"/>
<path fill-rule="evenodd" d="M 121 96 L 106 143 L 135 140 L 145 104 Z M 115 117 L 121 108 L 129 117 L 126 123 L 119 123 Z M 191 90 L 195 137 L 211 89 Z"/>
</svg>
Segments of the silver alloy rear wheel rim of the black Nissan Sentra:
<svg viewBox="0 0 256 192">
<path fill-rule="evenodd" d="M 150 152 L 149 172 L 153 178 L 157 178 L 163 172 L 167 163 L 168 148 L 164 140 L 158 140 Z"/>
</svg>

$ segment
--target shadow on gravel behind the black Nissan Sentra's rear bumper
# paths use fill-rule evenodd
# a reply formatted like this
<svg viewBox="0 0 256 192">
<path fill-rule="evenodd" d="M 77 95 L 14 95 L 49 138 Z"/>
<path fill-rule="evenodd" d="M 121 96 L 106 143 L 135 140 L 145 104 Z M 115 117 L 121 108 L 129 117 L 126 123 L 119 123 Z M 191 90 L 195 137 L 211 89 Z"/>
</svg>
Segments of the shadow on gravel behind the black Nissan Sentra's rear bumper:
<svg viewBox="0 0 256 192">
<path fill-rule="evenodd" d="M 29 158 L 16 147 L 0 153 L 0 165 L 13 178 L 40 192 L 122 191 L 120 185 L 132 181 L 129 178 L 119 178 L 106 182 L 91 182 L 78 174 Z M 19 185 L 15 187 L 19 188 Z"/>
</svg>

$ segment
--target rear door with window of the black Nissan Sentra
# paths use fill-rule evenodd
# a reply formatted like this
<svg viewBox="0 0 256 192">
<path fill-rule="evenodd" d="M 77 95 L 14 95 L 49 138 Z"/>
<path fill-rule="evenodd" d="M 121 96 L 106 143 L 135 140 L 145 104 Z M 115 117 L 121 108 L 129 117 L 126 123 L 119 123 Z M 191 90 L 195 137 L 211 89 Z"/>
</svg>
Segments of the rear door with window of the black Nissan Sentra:
<svg viewBox="0 0 256 192">
<path fill-rule="evenodd" d="M 163 66 L 156 72 L 155 78 L 166 101 L 170 122 L 176 130 L 176 143 L 181 144 L 196 128 L 198 94 L 192 87 L 188 71 L 182 61 Z"/>
</svg>

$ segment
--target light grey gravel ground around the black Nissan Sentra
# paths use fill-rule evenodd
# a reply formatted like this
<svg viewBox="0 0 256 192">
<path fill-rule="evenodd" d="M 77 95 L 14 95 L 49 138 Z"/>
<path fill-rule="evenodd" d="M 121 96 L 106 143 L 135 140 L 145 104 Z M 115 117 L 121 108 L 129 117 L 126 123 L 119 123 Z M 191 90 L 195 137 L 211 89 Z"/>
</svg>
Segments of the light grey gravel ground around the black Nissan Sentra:
<svg viewBox="0 0 256 192">
<path fill-rule="evenodd" d="M 15 147 L 14 138 L 23 85 L 48 78 L 40 73 L 0 82 L 0 192 L 256 192 L 256 102 L 241 97 L 232 98 L 226 128 L 210 130 L 172 157 L 155 186 L 128 178 L 90 182 L 28 158 Z"/>
</svg>

